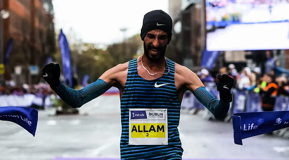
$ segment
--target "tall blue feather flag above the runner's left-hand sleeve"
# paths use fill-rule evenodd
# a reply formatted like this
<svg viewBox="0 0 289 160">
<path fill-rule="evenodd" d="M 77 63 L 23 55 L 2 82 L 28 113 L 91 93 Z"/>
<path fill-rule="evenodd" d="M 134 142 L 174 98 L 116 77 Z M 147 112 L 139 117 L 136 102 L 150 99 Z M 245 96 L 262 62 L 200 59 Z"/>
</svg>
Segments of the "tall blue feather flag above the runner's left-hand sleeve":
<svg viewBox="0 0 289 160">
<path fill-rule="evenodd" d="M 64 35 L 62 29 L 59 33 L 59 48 L 61 52 L 61 58 L 62 58 L 62 65 L 63 65 L 63 74 L 64 78 L 69 82 L 70 88 L 73 88 L 72 84 L 72 73 L 71 73 L 71 60 L 70 60 L 70 50 L 68 41 L 66 39 L 66 36 Z"/>
</svg>

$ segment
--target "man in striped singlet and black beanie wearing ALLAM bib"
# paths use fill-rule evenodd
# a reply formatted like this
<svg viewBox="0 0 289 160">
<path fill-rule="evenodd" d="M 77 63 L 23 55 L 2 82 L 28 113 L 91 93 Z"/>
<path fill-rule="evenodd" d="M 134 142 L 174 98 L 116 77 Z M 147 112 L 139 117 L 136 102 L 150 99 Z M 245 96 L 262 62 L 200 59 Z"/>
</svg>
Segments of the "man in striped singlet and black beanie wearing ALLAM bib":
<svg viewBox="0 0 289 160">
<path fill-rule="evenodd" d="M 112 86 L 119 89 L 121 159 L 181 159 L 183 149 L 177 127 L 184 92 L 190 90 L 217 119 L 223 119 L 232 102 L 230 90 L 234 80 L 225 74 L 218 76 L 221 100 L 217 100 L 195 73 L 165 58 L 172 36 L 172 19 L 162 10 L 144 16 L 140 36 L 144 54 L 107 70 L 81 90 L 68 88 L 59 81 L 59 64 L 45 65 L 43 77 L 73 108 L 81 107 Z"/>
</svg>

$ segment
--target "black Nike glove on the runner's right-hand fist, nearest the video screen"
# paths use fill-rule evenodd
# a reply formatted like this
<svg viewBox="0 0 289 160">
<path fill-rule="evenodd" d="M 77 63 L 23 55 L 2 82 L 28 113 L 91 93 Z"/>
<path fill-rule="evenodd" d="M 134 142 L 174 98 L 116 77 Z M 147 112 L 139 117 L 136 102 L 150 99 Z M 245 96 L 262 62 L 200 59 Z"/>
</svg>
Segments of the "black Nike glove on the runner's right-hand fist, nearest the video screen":
<svg viewBox="0 0 289 160">
<path fill-rule="evenodd" d="M 231 89 L 234 84 L 234 79 L 228 76 L 227 74 L 218 75 L 218 86 L 217 90 L 220 93 L 220 99 L 223 102 L 232 102 L 232 93 Z"/>
</svg>

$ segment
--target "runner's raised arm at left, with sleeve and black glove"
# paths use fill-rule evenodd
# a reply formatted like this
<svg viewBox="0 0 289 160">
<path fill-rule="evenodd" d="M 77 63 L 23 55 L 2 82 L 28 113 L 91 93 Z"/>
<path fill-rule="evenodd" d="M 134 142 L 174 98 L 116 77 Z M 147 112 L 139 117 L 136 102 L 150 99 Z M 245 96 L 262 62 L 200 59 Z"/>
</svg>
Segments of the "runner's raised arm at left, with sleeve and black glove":
<svg viewBox="0 0 289 160">
<path fill-rule="evenodd" d="M 42 72 L 45 81 L 64 102 L 73 108 L 79 108 L 105 93 L 115 83 L 118 83 L 117 76 L 123 68 L 122 65 L 117 65 L 107 70 L 97 81 L 81 90 L 68 88 L 59 81 L 60 67 L 58 64 L 50 63 L 45 65 Z"/>
</svg>

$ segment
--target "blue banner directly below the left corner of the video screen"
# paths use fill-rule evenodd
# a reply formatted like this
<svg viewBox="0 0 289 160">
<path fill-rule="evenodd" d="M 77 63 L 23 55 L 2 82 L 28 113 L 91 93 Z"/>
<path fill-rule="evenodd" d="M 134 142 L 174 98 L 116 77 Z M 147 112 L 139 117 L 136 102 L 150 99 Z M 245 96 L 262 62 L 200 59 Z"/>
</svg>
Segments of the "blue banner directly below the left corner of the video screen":
<svg viewBox="0 0 289 160">
<path fill-rule="evenodd" d="M 202 54 L 201 67 L 206 67 L 209 70 L 212 69 L 219 54 L 219 51 L 207 51 L 207 49 L 204 49 Z"/>
</svg>

